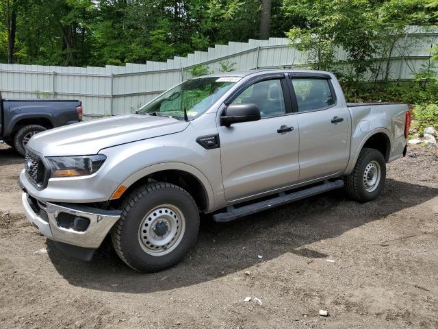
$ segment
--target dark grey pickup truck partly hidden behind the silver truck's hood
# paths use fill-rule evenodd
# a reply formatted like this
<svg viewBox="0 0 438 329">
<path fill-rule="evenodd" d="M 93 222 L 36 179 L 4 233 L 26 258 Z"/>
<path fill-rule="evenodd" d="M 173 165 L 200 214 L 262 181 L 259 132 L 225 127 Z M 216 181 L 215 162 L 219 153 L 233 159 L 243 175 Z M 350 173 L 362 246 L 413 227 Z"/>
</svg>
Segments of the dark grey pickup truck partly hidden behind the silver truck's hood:
<svg viewBox="0 0 438 329">
<path fill-rule="evenodd" d="M 82 103 L 70 99 L 2 99 L 0 94 L 0 143 L 22 156 L 34 134 L 82 120 Z"/>
</svg>

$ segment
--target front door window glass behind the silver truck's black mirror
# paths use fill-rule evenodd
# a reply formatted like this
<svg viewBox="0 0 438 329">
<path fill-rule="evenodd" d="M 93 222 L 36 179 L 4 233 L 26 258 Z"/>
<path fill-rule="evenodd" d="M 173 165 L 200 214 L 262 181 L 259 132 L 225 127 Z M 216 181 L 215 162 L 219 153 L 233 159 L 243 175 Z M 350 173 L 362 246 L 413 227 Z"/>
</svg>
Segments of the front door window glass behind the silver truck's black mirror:
<svg viewBox="0 0 438 329">
<path fill-rule="evenodd" d="M 233 101 L 233 104 L 238 103 L 255 103 L 262 118 L 286 112 L 280 80 L 266 80 L 249 86 Z"/>
</svg>

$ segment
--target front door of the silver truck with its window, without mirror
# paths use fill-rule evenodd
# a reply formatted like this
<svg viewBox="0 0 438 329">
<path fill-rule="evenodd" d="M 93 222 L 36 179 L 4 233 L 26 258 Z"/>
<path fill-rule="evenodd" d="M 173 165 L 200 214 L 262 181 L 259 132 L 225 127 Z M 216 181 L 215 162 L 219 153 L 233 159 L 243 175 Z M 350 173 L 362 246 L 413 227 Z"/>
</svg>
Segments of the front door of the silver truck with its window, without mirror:
<svg viewBox="0 0 438 329">
<path fill-rule="evenodd" d="M 298 122 L 284 92 L 285 79 L 263 80 L 232 101 L 257 104 L 261 120 L 218 128 L 227 200 L 272 191 L 298 180 Z"/>
</svg>

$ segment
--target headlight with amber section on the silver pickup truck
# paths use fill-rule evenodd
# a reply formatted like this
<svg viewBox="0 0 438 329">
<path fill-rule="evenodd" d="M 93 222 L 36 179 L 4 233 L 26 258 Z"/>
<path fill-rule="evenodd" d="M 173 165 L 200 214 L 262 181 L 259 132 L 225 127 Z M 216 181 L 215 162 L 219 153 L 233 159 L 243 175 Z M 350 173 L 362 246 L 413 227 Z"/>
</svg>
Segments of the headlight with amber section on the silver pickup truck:
<svg viewBox="0 0 438 329">
<path fill-rule="evenodd" d="M 73 177 L 91 175 L 99 170 L 106 160 L 103 154 L 96 156 L 63 156 L 46 158 L 51 169 L 51 177 Z"/>
</svg>

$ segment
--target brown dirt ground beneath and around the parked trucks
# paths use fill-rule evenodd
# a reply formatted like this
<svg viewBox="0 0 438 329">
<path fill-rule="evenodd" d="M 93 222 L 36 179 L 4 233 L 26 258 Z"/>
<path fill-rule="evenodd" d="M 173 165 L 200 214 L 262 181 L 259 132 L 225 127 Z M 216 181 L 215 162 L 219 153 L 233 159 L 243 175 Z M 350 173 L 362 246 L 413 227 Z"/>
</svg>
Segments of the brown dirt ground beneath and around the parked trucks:
<svg viewBox="0 0 438 329">
<path fill-rule="evenodd" d="M 409 154 L 374 202 L 339 190 L 205 220 L 182 263 L 145 275 L 108 243 L 85 263 L 40 236 L 23 159 L 0 146 L 0 328 L 438 328 L 438 151 Z"/>
</svg>

